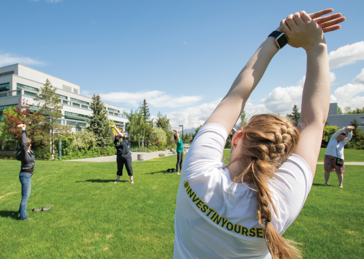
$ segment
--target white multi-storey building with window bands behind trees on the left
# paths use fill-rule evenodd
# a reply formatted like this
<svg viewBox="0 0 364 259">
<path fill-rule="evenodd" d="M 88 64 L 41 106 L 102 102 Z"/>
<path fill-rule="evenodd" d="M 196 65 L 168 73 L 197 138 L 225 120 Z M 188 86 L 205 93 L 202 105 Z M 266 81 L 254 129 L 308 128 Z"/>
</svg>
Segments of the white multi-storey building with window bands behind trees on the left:
<svg viewBox="0 0 364 259">
<path fill-rule="evenodd" d="M 63 104 L 62 118 L 59 118 L 58 123 L 71 125 L 73 131 L 87 127 L 92 116 L 91 98 L 80 95 L 79 85 L 21 64 L 0 67 L 0 116 L 7 107 L 19 106 L 19 98 L 22 103 L 25 99 L 32 105 L 29 108 L 31 112 L 38 109 L 33 98 L 47 79 L 56 88 L 60 103 Z M 108 119 L 124 130 L 128 120 L 121 108 L 108 103 L 104 103 L 104 106 Z"/>
</svg>

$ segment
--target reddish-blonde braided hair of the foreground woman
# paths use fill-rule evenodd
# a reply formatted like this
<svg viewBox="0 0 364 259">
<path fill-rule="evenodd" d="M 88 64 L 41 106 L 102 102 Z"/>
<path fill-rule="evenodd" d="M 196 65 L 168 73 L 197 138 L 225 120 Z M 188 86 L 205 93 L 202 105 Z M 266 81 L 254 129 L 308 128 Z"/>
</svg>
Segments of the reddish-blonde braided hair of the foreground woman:
<svg viewBox="0 0 364 259">
<path fill-rule="evenodd" d="M 276 215 L 277 211 L 268 188 L 268 180 L 296 148 L 300 136 L 298 129 L 279 115 L 260 114 L 253 116 L 242 127 L 242 132 L 238 154 L 230 163 L 238 162 L 245 170 L 236 176 L 234 182 L 253 184 L 258 201 L 257 219 L 259 224 L 264 221 L 265 240 L 272 257 L 301 258 L 298 243 L 282 238 L 270 223 L 272 212 L 269 206 Z"/>
</svg>

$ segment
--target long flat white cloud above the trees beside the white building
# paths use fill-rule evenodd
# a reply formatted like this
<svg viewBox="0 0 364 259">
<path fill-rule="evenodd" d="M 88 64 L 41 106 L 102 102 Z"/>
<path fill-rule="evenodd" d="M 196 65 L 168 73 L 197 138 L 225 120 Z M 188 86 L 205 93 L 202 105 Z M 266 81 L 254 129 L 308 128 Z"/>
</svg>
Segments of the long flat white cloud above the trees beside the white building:
<svg viewBox="0 0 364 259">
<path fill-rule="evenodd" d="M 146 98 L 149 105 L 154 107 L 186 107 L 202 99 L 201 96 L 170 96 L 161 91 L 148 92 L 111 92 L 100 93 L 102 100 L 112 101 L 114 103 L 127 103 L 131 106 L 138 107 L 141 101 Z"/>
</svg>

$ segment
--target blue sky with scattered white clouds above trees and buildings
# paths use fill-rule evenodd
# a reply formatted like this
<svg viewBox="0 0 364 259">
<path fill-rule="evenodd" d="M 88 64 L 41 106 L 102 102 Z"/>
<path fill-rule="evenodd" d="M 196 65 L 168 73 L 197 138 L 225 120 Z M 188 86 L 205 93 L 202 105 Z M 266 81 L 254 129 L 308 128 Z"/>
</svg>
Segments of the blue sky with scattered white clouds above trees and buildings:
<svg viewBox="0 0 364 259">
<path fill-rule="evenodd" d="M 325 33 L 329 52 L 336 51 L 330 54 L 332 101 L 363 108 L 364 3 L 317 2 L 4 0 L 0 66 L 28 65 L 126 111 L 146 98 L 151 115 L 161 111 L 172 127 L 192 128 L 282 19 L 333 8 L 347 20 Z M 303 49 L 280 50 L 247 113 L 285 114 L 300 106 L 305 66 Z"/>
</svg>

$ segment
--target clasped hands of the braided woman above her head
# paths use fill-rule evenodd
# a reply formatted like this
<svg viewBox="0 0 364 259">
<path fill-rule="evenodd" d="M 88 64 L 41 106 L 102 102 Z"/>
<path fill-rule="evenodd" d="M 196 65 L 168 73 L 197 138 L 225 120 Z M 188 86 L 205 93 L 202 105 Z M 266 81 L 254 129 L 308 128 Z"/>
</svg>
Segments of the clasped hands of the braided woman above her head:
<svg viewBox="0 0 364 259">
<path fill-rule="evenodd" d="M 307 14 L 305 11 L 287 16 L 280 23 L 279 31 L 284 32 L 288 44 L 294 48 L 304 48 L 306 51 L 321 43 L 326 44 L 324 32 L 336 31 L 341 26 L 338 23 L 345 21 L 341 13 L 324 16 L 333 12 L 325 9 Z"/>
</svg>

